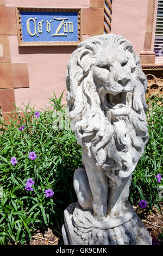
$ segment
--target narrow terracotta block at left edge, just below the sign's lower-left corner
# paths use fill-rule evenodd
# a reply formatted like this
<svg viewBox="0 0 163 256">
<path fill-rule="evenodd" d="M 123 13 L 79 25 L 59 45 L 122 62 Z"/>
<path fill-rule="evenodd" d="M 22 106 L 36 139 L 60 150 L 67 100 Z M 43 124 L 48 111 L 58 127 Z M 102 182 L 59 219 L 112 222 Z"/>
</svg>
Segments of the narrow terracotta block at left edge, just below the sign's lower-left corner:
<svg viewBox="0 0 163 256">
<path fill-rule="evenodd" d="M 0 62 L 11 62 L 8 35 L 0 35 Z"/>
</svg>

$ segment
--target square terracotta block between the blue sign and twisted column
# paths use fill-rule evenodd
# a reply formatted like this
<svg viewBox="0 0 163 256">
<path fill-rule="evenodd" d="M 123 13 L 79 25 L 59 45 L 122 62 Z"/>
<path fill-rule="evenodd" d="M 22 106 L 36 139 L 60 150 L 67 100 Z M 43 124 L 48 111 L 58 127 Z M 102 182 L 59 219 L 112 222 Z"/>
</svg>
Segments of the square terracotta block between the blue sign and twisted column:
<svg viewBox="0 0 163 256">
<path fill-rule="evenodd" d="M 83 8 L 83 34 L 103 34 L 103 23 L 103 8 Z"/>
</svg>

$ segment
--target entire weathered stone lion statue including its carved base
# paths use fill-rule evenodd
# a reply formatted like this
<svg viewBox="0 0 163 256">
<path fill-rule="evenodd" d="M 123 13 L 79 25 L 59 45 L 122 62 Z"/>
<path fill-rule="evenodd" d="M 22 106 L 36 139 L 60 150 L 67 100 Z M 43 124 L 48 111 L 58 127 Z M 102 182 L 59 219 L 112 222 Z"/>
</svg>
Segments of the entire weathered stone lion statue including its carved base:
<svg viewBox="0 0 163 256">
<path fill-rule="evenodd" d="M 92 36 L 72 53 L 66 85 L 84 168 L 74 173 L 79 204 L 65 210 L 65 244 L 151 245 L 127 200 L 148 141 L 147 78 L 139 56 L 121 35 Z"/>
</svg>

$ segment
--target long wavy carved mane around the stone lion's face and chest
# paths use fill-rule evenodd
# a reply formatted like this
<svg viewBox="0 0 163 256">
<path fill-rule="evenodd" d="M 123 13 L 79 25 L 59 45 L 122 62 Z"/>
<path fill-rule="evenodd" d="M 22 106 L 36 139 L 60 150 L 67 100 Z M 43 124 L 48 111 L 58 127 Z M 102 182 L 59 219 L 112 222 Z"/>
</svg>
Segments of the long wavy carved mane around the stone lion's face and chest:
<svg viewBox="0 0 163 256">
<path fill-rule="evenodd" d="M 110 47 L 110 49 L 118 47 L 122 51 L 129 49 L 134 56 L 136 69 L 133 76 L 136 86 L 132 92 L 127 93 L 127 100 L 131 99 L 132 105 L 126 122 L 130 130 L 130 150 L 134 150 L 134 155 L 136 153 L 133 159 L 136 166 L 143 153 L 144 145 L 148 141 L 145 115 L 147 79 L 142 72 L 139 56 L 133 52 L 131 43 L 122 36 L 114 34 L 92 36 L 81 42 L 77 50 L 72 53 L 66 74 L 68 90 L 66 100 L 72 130 L 76 133 L 78 144 L 83 147 L 87 155 L 95 157 L 96 166 L 104 168 L 106 163 L 108 166 L 111 165 L 114 159 L 117 159 L 117 154 L 119 154 L 119 163 L 115 164 L 115 169 L 125 162 L 125 153 L 129 150 L 126 135 L 118 133 L 115 135 L 115 125 L 108 121 L 104 102 L 92 76 L 96 54 L 102 45 Z M 110 150 L 108 150 L 108 145 Z M 119 151 L 123 153 L 121 154 Z"/>
</svg>

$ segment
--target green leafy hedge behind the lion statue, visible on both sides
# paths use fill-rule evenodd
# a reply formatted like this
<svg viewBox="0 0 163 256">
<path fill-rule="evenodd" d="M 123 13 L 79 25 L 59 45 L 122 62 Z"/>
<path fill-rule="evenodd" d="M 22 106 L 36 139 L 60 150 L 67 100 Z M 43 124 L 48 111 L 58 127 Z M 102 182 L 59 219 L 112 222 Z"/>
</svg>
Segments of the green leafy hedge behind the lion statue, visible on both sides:
<svg viewBox="0 0 163 256">
<path fill-rule="evenodd" d="M 23 244 L 38 229 L 58 227 L 65 208 L 77 201 L 74 170 L 82 166 L 82 148 L 67 126 L 66 106 L 51 97 L 51 107 L 36 112 L 29 104 L 16 108 L 5 123 L 0 118 L 0 243 Z M 147 200 L 152 209 L 162 201 L 156 175 L 162 175 L 162 105 L 154 99 L 147 112 L 149 141 L 133 173 L 129 200 Z M 69 124 L 69 122 L 68 122 Z M 56 129 L 62 127 L 62 130 Z M 29 153 L 37 157 L 29 159 Z M 10 163 L 16 157 L 17 163 Z M 32 179 L 33 191 L 26 190 Z M 46 197 L 51 188 L 53 197 Z M 3 189 L 3 191 L 2 191 Z M 3 193 L 2 193 L 3 192 Z M 159 209 L 160 210 L 160 209 Z"/>
</svg>

